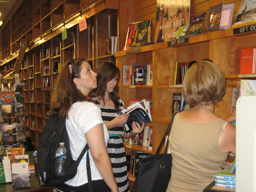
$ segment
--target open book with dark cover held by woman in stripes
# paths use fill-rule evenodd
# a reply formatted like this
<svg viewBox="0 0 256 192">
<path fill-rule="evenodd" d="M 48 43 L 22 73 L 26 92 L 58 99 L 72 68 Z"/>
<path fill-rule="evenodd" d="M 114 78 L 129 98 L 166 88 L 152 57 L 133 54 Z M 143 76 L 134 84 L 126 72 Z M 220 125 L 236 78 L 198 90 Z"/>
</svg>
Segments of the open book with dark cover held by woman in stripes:
<svg viewBox="0 0 256 192">
<path fill-rule="evenodd" d="M 145 101 L 143 99 L 141 102 L 136 102 L 133 105 L 129 106 L 128 108 L 123 109 L 116 113 L 116 116 L 120 116 L 125 113 L 125 116 L 130 114 L 128 117 L 127 122 L 125 123 L 124 127 L 127 133 L 132 131 L 132 122 L 138 122 L 140 126 L 142 123 L 146 125 L 147 123 L 152 121 L 149 101 Z"/>
</svg>

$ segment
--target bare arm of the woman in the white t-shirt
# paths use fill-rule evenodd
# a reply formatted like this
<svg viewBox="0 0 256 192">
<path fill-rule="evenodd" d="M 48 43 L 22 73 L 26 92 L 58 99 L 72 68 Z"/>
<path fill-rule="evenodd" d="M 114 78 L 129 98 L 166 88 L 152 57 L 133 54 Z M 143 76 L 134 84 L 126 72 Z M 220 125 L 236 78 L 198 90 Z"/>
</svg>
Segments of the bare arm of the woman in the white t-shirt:
<svg viewBox="0 0 256 192">
<path fill-rule="evenodd" d="M 105 145 L 103 125 L 98 124 L 85 134 L 93 161 L 111 192 L 119 192 Z"/>
</svg>

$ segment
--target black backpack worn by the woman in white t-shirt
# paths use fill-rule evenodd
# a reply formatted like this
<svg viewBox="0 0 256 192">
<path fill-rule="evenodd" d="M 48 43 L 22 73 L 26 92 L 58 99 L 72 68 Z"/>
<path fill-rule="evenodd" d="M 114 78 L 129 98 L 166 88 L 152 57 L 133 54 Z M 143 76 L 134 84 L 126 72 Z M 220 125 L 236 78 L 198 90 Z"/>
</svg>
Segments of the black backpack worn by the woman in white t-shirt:
<svg viewBox="0 0 256 192">
<path fill-rule="evenodd" d="M 67 149 L 67 166 L 66 174 L 64 176 L 54 174 L 54 162 L 56 159 L 55 152 L 61 142 L 65 143 L 64 146 Z M 59 118 L 57 115 L 50 116 L 44 125 L 44 130 L 39 140 L 37 151 L 38 172 L 42 181 L 47 185 L 57 186 L 75 177 L 77 167 L 88 148 L 89 147 L 86 144 L 79 158 L 76 161 L 73 160 L 67 134 L 66 120 Z M 87 153 L 87 156 L 89 157 L 88 154 L 89 153 Z"/>
</svg>

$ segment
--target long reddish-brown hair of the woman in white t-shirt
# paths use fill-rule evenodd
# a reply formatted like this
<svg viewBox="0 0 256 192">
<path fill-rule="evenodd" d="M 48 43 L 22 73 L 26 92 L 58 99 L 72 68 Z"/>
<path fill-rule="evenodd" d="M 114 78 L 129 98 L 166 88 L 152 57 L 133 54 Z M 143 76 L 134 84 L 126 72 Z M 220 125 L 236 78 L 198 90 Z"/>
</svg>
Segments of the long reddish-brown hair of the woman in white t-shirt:
<svg viewBox="0 0 256 192">
<path fill-rule="evenodd" d="M 72 65 L 72 75 L 70 74 L 68 62 L 61 67 L 61 72 L 55 84 L 55 91 L 51 98 L 51 115 L 58 114 L 61 119 L 65 119 L 68 118 L 67 113 L 74 102 L 94 102 L 78 90 L 73 82 L 74 78 L 80 78 L 83 62 L 86 62 L 84 58 L 77 58 L 75 60 Z"/>
</svg>

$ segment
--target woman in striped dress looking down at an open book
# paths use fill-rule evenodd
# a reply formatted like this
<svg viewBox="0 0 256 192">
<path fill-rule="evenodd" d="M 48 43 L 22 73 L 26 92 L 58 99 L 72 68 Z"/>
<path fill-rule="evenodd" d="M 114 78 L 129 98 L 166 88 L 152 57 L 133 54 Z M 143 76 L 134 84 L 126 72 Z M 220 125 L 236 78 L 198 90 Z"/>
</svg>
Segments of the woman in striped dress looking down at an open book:
<svg viewBox="0 0 256 192">
<path fill-rule="evenodd" d="M 124 116 L 125 114 L 119 117 L 115 116 L 115 113 L 125 108 L 124 101 L 117 96 L 119 69 L 112 63 L 106 62 L 99 65 L 96 73 L 98 87 L 92 90 L 89 96 L 96 101 L 96 105 L 101 109 L 102 119 L 110 134 L 107 149 L 119 192 L 129 192 L 127 162 L 122 137 L 125 139 L 135 137 L 143 131 L 144 124 L 140 126 L 134 122 L 133 131 L 127 134 L 122 125 L 127 122 L 128 116 Z"/>
</svg>

